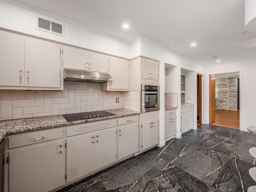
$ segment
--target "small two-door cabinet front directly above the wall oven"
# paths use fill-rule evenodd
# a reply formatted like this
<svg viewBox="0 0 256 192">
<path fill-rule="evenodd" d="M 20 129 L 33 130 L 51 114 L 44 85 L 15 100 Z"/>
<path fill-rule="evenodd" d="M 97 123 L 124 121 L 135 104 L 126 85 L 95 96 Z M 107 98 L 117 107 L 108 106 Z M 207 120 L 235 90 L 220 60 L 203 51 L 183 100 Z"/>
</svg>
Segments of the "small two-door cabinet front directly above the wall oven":
<svg viewBox="0 0 256 192">
<path fill-rule="evenodd" d="M 154 60 L 142 58 L 142 78 L 158 80 L 159 63 Z"/>
</svg>

